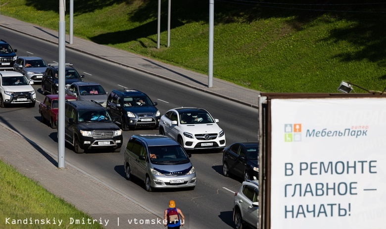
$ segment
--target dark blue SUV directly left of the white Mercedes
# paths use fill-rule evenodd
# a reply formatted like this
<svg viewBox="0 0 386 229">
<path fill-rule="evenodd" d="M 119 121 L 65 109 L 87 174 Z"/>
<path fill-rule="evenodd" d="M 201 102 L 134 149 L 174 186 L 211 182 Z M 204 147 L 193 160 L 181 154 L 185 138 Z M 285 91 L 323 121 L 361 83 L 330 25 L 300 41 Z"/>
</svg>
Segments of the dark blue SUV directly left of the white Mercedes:
<svg viewBox="0 0 386 229">
<path fill-rule="evenodd" d="M 138 90 L 113 90 L 107 97 L 106 109 L 121 124 L 122 130 L 157 128 L 161 113 L 156 102 Z"/>
</svg>

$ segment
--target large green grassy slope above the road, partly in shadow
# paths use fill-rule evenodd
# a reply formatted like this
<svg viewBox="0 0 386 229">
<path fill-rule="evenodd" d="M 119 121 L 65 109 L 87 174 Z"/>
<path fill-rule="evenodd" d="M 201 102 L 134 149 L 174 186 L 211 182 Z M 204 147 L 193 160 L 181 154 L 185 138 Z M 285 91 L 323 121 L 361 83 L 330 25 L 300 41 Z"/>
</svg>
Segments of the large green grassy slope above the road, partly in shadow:
<svg viewBox="0 0 386 229">
<path fill-rule="evenodd" d="M 159 49 L 158 2 L 151 0 L 74 0 L 74 35 L 207 74 L 208 1 L 172 2 L 170 47 L 167 2 L 161 4 Z M 383 91 L 386 17 L 352 12 L 386 11 L 385 6 L 337 7 L 323 12 L 314 11 L 323 6 L 306 11 L 215 1 L 213 76 L 263 92 L 334 93 L 342 80 Z M 1 5 L 1 14 L 58 27 L 56 1 L 12 0 Z"/>
</svg>

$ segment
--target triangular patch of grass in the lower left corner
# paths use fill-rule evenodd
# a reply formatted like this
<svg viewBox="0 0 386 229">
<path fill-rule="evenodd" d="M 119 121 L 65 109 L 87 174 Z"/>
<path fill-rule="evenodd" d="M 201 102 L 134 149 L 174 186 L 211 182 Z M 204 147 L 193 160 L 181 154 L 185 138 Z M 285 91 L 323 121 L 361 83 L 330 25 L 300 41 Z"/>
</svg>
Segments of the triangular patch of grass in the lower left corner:
<svg viewBox="0 0 386 229">
<path fill-rule="evenodd" d="M 70 224 L 69 218 L 92 219 L 37 182 L 19 174 L 0 160 L 0 229 L 102 229 L 100 225 Z M 7 220 L 8 219 L 8 220 Z M 12 220 L 33 220 L 33 224 L 12 224 Z M 41 220 L 50 219 L 50 225 Z M 56 219 L 56 225 L 53 225 Z M 40 220 L 39 224 L 35 220 Z M 59 226 L 59 220 L 62 220 Z M 30 222 L 30 221 L 27 221 Z M 10 224 L 7 224 L 10 223 Z"/>
</svg>

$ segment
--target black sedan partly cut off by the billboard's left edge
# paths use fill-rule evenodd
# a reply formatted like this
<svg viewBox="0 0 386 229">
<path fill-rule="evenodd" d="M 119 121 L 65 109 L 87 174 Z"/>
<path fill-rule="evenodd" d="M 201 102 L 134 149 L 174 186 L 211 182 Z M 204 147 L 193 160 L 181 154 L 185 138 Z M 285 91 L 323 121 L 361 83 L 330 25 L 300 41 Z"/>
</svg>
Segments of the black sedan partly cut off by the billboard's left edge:
<svg viewBox="0 0 386 229">
<path fill-rule="evenodd" d="M 233 174 L 247 180 L 259 179 L 259 143 L 257 141 L 236 142 L 223 150 L 223 173 Z"/>
</svg>

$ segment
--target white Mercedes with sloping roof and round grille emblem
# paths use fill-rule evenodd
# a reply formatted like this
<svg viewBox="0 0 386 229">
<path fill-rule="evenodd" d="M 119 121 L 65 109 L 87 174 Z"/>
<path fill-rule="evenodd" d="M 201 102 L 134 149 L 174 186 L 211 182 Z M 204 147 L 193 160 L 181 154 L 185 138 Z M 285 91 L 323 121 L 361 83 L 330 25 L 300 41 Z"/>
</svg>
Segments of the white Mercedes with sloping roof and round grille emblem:
<svg viewBox="0 0 386 229">
<path fill-rule="evenodd" d="M 218 122 L 202 108 L 174 108 L 162 115 L 159 134 L 175 139 L 187 150 L 222 150 L 225 147 L 225 134 L 217 125 Z"/>
</svg>

